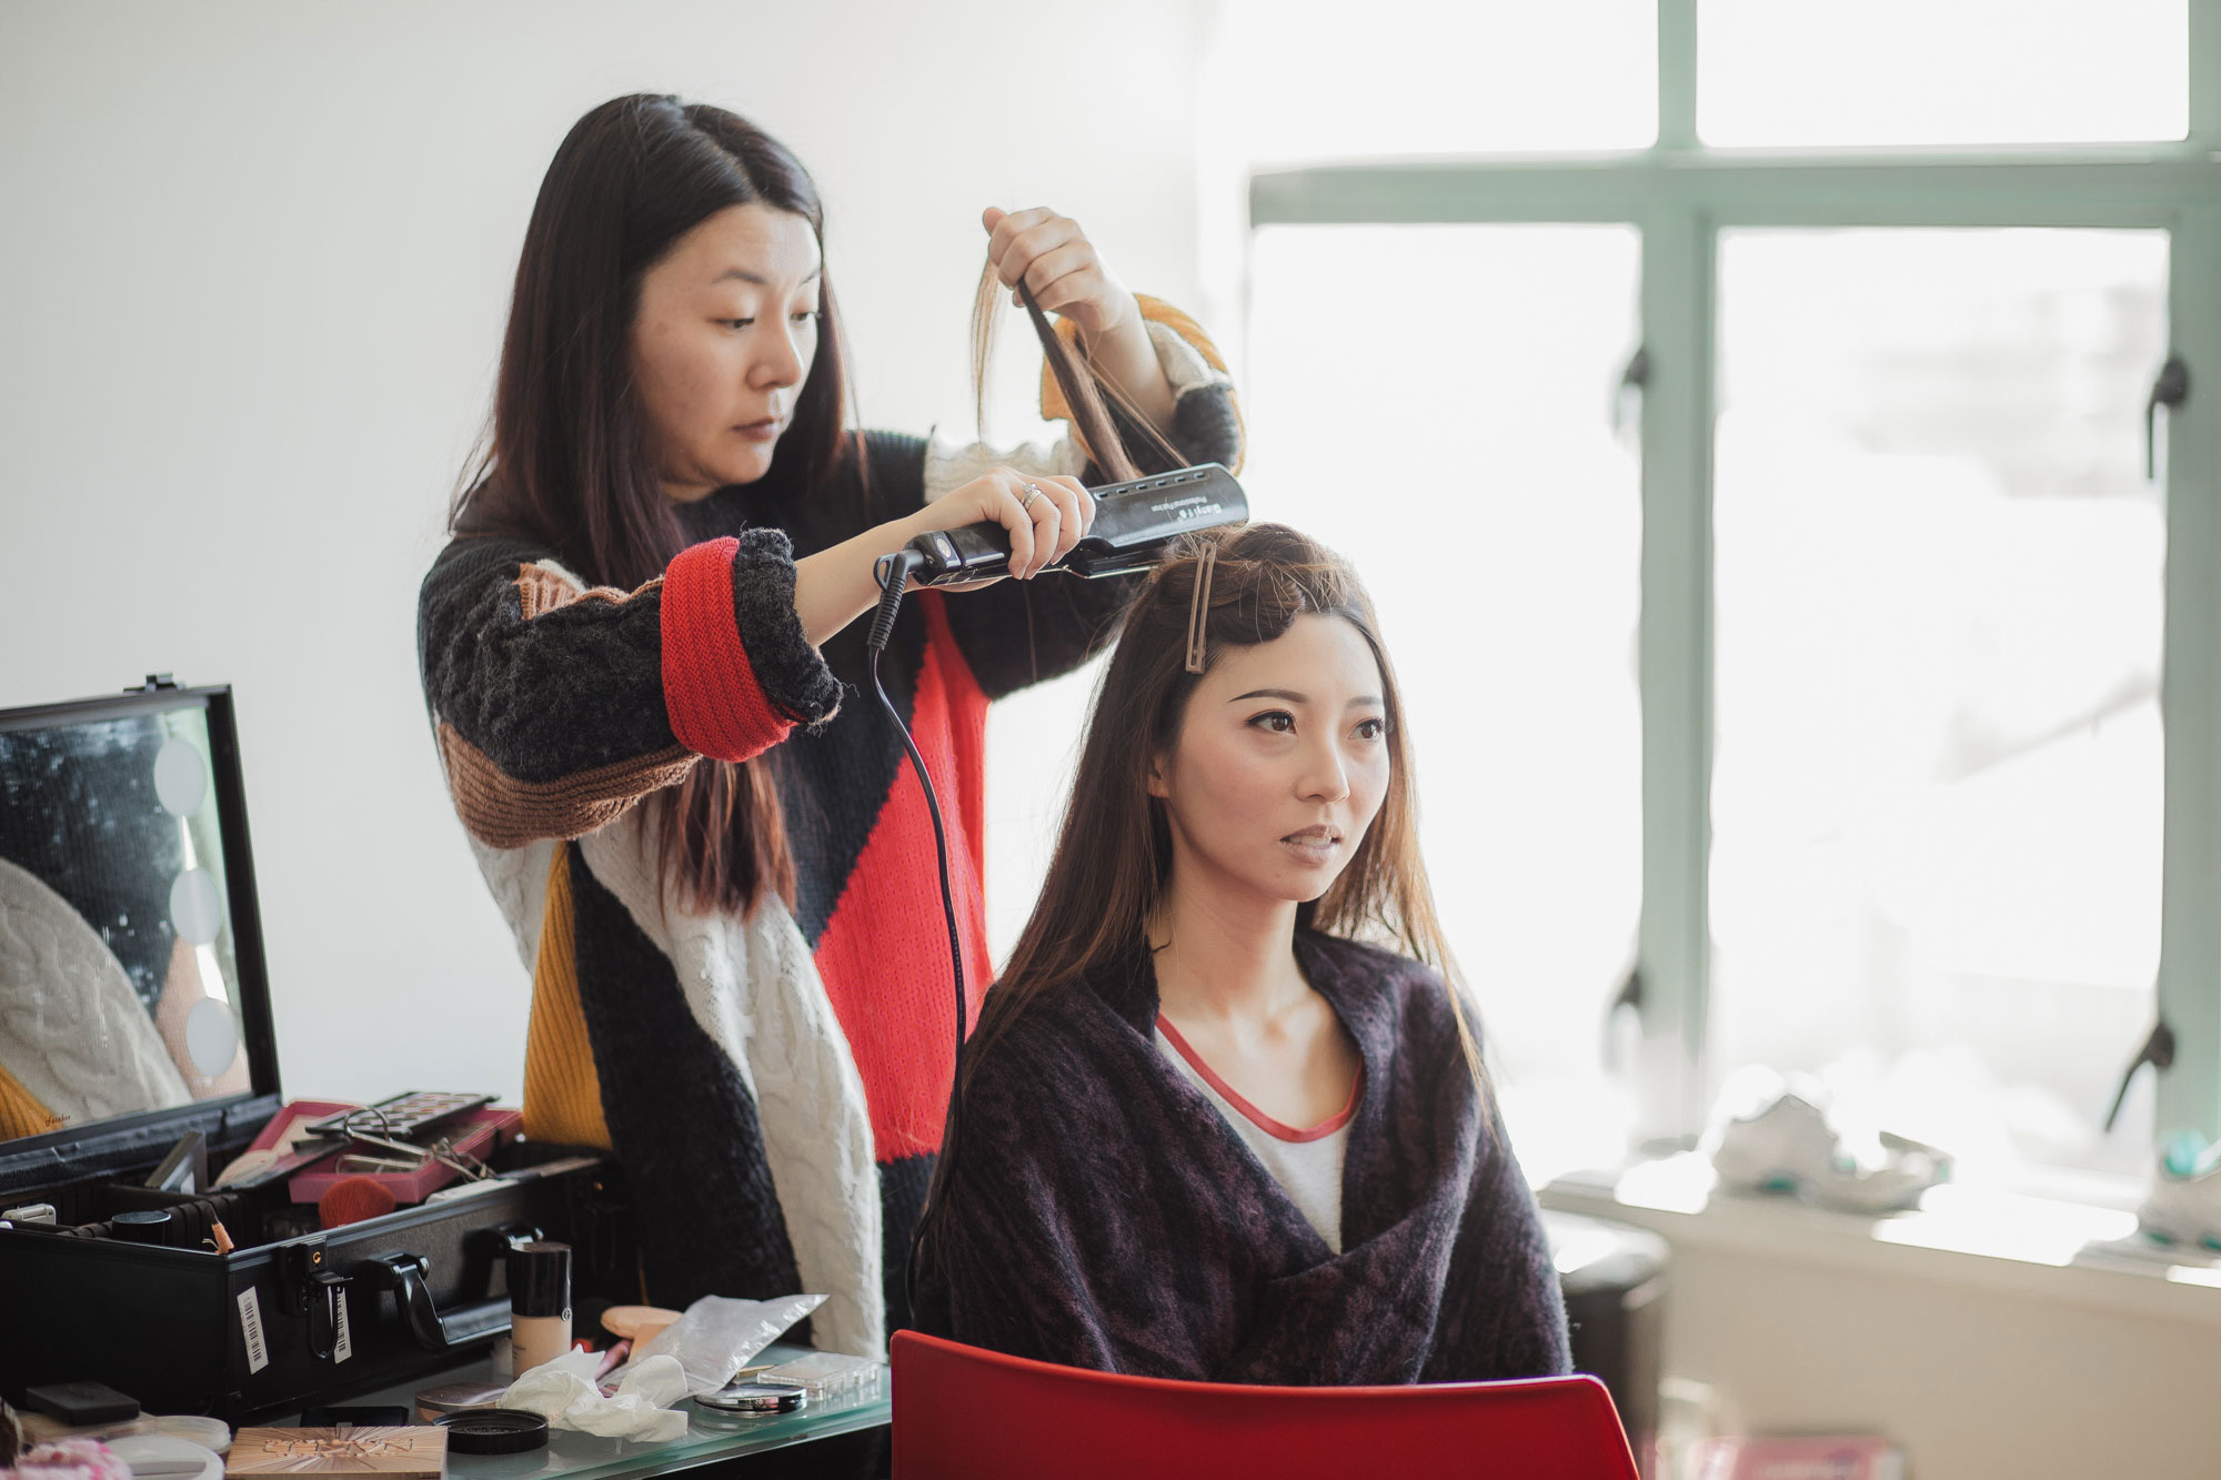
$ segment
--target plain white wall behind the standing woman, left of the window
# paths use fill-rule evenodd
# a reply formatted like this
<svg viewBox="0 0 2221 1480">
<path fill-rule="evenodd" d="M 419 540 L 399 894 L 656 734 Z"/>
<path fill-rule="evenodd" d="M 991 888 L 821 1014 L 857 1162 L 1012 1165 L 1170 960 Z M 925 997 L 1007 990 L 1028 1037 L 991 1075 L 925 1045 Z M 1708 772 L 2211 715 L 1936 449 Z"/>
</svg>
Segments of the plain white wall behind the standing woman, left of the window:
<svg viewBox="0 0 2221 1480">
<path fill-rule="evenodd" d="M 149 669 L 238 687 L 289 1091 L 522 1082 L 529 984 L 413 622 L 569 124 L 651 89 L 784 138 L 828 200 L 864 418 L 962 431 L 982 207 L 1055 204 L 1193 302 L 1190 24 L 1182 0 L 0 7 L 0 707 Z M 991 849 L 1019 880 L 1073 711 L 1066 684 L 997 720 Z"/>
</svg>

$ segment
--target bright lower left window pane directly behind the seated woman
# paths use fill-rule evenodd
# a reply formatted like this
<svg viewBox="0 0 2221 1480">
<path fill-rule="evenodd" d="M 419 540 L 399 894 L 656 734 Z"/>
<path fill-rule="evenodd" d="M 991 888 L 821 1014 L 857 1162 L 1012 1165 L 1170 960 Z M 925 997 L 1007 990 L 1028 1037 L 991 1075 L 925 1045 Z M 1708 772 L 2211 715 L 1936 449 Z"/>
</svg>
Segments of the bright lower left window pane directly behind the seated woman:
<svg viewBox="0 0 2221 1480">
<path fill-rule="evenodd" d="M 1608 404 L 1639 260 L 1632 227 L 1268 227 L 1250 264 L 1242 480 L 1379 604 L 1530 1176 L 1626 1144 L 1599 1040 L 1641 909 L 1641 496 Z"/>
</svg>

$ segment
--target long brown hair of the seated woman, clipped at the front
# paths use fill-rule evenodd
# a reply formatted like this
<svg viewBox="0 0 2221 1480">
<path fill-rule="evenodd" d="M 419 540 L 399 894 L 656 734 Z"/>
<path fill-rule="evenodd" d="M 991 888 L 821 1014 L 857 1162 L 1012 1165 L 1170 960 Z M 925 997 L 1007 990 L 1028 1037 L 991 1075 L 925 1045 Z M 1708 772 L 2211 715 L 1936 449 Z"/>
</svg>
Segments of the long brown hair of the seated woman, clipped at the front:
<svg viewBox="0 0 2221 1480">
<path fill-rule="evenodd" d="M 1388 718 L 1388 793 L 1348 867 L 1317 900 L 1297 907 L 1297 924 L 1377 940 L 1435 967 L 1450 996 L 1475 1091 L 1488 1096 L 1488 1073 L 1466 1007 L 1464 978 L 1419 858 L 1419 807 L 1413 789 L 1404 698 L 1388 649 L 1381 647 L 1373 600 L 1346 560 L 1286 524 L 1208 529 L 1150 571 L 1126 609 L 1117 651 L 1095 691 L 1079 769 L 1048 862 L 1042 898 L 1011 960 L 988 991 L 979 1031 L 964 1044 L 962 1080 L 971 1080 L 1011 1024 L 1046 991 L 1128 960 L 1173 878 L 1173 833 L 1164 802 L 1148 793 L 1150 764 L 1175 749 L 1188 698 L 1199 682 L 1186 667 L 1188 611 L 1217 549 L 1204 618 L 1204 669 L 1230 647 L 1253 647 L 1286 633 L 1306 613 L 1346 620 L 1373 649 Z M 962 1109 L 962 1089 L 953 1111 Z M 1486 1120 L 1484 1120 L 1486 1124 Z M 931 1222 L 944 1207 L 962 1136 L 951 1113 L 926 1198 L 922 1240 L 933 1253 Z"/>
</svg>

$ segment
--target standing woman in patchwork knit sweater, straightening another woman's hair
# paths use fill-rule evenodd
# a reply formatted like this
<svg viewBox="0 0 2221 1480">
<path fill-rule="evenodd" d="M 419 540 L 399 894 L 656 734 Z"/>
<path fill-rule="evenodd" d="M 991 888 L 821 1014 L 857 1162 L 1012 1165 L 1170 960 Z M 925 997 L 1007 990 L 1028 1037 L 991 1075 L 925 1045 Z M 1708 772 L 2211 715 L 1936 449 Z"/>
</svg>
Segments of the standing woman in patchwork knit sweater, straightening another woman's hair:
<svg viewBox="0 0 2221 1480">
<path fill-rule="evenodd" d="M 1066 218 L 986 227 L 1002 282 L 1135 416 L 1237 462 L 1193 322 L 1119 287 Z M 926 529 L 1011 533 L 1015 580 L 906 602 L 882 658 L 942 796 L 975 1007 L 986 704 L 1082 662 L 1128 587 L 1026 580 L 1093 518 L 1075 438 L 846 431 L 822 244 L 808 173 L 733 113 L 631 96 L 571 129 L 418 656 L 533 969 L 526 1133 L 615 1151 L 646 1300 L 826 1291 L 817 1342 L 875 1353 L 906 1316 L 953 1047 L 924 793 L 857 700 L 873 560 Z"/>
</svg>

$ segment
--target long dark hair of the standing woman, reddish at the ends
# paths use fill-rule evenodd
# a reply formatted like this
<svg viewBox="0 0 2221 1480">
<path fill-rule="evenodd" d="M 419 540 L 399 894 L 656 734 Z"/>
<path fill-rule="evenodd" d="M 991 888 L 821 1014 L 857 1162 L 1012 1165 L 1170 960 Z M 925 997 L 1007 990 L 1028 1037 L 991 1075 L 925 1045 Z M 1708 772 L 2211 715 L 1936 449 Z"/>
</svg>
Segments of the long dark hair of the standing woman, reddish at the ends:
<svg viewBox="0 0 2221 1480">
<path fill-rule="evenodd" d="M 633 382 L 633 313 L 642 276 L 686 231 L 735 204 L 802 216 L 824 247 L 808 171 L 735 113 L 635 93 L 571 127 L 524 229 L 493 420 L 449 509 L 455 533 L 544 544 L 593 584 L 631 591 L 662 576 L 686 536 L 657 478 Z M 820 291 L 817 358 L 762 480 L 771 493 L 804 500 L 857 456 L 831 278 Z M 795 864 L 768 762 L 704 760 L 657 804 L 662 876 L 693 907 L 753 913 L 766 889 L 793 900 Z"/>
</svg>

